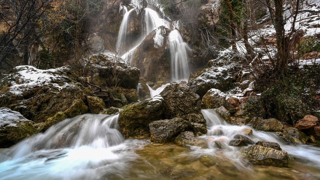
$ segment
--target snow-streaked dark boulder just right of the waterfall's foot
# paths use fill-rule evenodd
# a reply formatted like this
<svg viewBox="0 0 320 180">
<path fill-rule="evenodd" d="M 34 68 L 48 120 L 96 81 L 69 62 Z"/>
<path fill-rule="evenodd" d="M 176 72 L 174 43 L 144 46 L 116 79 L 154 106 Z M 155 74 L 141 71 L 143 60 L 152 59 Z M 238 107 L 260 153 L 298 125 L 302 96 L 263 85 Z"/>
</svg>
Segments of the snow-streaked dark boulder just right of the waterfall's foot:
<svg viewBox="0 0 320 180">
<path fill-rule="evenodd" d="M 232 79 L 232 76 L 228 74 L 227 68 L 207 69 L 207 72 L 188 82 L 188 86 L 200 97 L 203 97 L 212 88 L 228 90 Z"/>
</svg>

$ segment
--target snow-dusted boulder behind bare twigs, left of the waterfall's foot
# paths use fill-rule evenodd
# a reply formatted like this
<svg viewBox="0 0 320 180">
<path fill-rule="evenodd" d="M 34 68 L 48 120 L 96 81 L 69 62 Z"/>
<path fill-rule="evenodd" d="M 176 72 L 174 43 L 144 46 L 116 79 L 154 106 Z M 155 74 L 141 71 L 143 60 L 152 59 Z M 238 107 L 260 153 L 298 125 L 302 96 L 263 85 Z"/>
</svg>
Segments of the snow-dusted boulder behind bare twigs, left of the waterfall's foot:
<svg viewBox="0 0 320 180">
<path fill-rule="evenodd" d="M 89 58 L 86 68 L 98 71 L 111 86 L 120 85 L 124 88 L 137 88 L 140 70 L 124 62 L 123 59 L 112 56 L 96 54 Z M 94 72 L 92 72 L 94 73 Z"/>
</svg>

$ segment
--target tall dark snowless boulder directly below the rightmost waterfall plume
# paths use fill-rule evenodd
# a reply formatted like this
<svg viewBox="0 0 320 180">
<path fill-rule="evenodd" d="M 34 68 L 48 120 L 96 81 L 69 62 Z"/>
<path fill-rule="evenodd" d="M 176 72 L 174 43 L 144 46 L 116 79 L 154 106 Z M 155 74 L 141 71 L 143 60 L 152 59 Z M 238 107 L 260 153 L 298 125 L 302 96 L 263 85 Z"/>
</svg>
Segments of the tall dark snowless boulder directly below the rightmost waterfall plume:
<svg viewBox="0 0 320 180">
<path fill-rule="evenodd" d="M 166 109 L 165 118 L 180 117 L 189 113 L 200 114 L 201 99 L 188 86 L 171 83 L 160 93 Z"/>
</svg>

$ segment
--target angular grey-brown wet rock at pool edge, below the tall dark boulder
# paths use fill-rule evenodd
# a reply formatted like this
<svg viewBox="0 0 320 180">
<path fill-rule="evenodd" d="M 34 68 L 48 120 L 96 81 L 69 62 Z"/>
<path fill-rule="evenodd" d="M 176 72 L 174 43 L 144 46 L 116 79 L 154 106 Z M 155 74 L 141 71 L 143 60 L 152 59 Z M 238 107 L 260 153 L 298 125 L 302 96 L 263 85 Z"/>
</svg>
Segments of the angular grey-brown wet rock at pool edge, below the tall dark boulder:
<svg viewBox="0 0 320 180">
<path fill-rule="evenodd" d="M 170 142 L 188 127 L 188 121 L 181 118 L 153 121 L 149 124 L 151 141 L 155 143 Z"/>
</svg>

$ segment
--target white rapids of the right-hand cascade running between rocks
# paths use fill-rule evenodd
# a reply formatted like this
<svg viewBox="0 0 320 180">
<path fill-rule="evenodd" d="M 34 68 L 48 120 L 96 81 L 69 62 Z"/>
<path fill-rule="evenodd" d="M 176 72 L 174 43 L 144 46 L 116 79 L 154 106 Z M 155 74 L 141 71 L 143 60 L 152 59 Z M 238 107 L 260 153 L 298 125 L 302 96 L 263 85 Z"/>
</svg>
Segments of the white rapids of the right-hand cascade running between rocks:
<svg viewBox="0 0 320 180">
<path fill-rule="evenodd" d="M 247 129 L 252 129 L 252 135 L 246 136 L 249 137 L 254 143 L 258 141 L 271 141 L 276 142 L 280 145 L 282 150 L 288 152 L 289 155 L 294 156 L 300 160 L 303 160 L 310 166 L 320 168 L 320 151 L 319 148 L 316 148 L 312 145 L 285 145 L 282 140 L 273 132 L 264 132 L 257 131 L 250 126 L 238 126 L 228 124 L 226 121 L 222 120 L 212 109 L 203 109 L 202 114 L 207 121 L 207 129 L 208 132 L 206 135 L 201 136 L 206 140 L 208 147 L 210 148 L 210 153 L 220 152 L 224 153 L 224 156 L 233 160 L 235 163 L 242 164 L 242 168 L 245 168 L 245 163 L 241 159 L 242 149 L 246 147 L 235 147 L 229 146 L 229 143 L 234 136 L 237 134 L 244 135 Z M 219 143 L 223 146 L 223 149 L 219 149 L 215 141 L 219 141 Z M 251 145 L 249 145 L 251 146 Z M 201 151 L 199 147 L 194 147 L 194 150 L 199 153 Z"/>
</svg>

